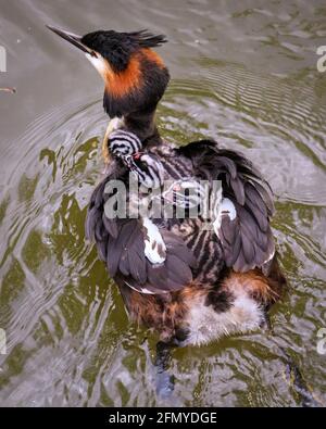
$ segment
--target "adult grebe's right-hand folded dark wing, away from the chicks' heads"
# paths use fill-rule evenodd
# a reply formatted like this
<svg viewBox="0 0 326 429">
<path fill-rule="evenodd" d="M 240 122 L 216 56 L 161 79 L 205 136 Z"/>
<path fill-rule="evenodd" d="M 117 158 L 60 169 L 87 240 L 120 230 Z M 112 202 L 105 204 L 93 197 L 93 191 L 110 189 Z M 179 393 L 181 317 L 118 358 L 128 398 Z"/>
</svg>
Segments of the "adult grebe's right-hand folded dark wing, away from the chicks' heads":
<svg viewBox="0 0 326 429">
<path fill-rule="evenodd" d="M 263 267 L 275 253 L 269 226 L 274 204 L 267 182 L 248 160 L 214 141 L 190 143 L 178 152 L 191 159 L 199 178 L 222 180 L 213 225 L 226 265 L 242 273 Z"/>
</svg>

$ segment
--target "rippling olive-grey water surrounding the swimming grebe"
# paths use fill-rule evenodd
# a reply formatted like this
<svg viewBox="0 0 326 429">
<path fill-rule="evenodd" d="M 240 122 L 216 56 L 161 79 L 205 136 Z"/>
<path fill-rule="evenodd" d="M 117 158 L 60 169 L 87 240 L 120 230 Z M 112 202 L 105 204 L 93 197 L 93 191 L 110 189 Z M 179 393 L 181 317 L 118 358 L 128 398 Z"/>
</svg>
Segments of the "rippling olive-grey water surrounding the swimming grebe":
<svg viewBox="0 0 326 429">
<path fill-rule="evenodd" d="M 89 71 L 92 80 L 80 92 L 88 65 L 41 26 L 57 18 L 55 24 L 77 30 L 80 17 L 86 30 L 87 20 L 103 27 L 104 2 L 96 2 L 87 18 L 72 2 L 72 22 L 54 2 L 28 3 L 41 24 L 23 3 L 7 5 L 0 20 L 8 36 L 25 42 L 33 34 L 35 46 L 28 49 L 49 73 L 40 77 L 46 93 L 49 79 L 62 86 L 52 88 L 50 102 L 35 84 L 29 93 L 24 79 L 29 84 L 33 59 L 26 76 L 21 68 L 11 75 L 15 81 L 0 81 L 18 89 L 14 96 L 0 93 L 1 113 L 3 103 L 15 108 L 1 122 L 10 138 L 0 143 L 0 328 L 8 338 L 8 355 L 0 355 L 0 404 L 165 404 L 152 382 L 155 337 L 128 323 L 116 288 L 85 241 L 86 206 L 101 176 L 106 125 L 99 80 Z M 313 54 L 326 37 L 323 2 L 272 2 L 268 10 L 244 9 L 242 2 L 233 10 L 213 1 L 153 2 L 150 9 L 143 3 L 130 1 L 131 23 L 118 3 L 116 18 L 124 29 L 153 23 L 152 30 L 172 39 L 161 51 L 176 76 L 159 109 L 162 135 L 180 144 L 214 137 L 260 166 L 277 198 L 273 226 L 290 283 L 272 312 L 273 336 L 255 332 L 173 353 L 173 404 L 300 405 L 279 348 L 325 402 L 325 356 L 316 343 L 317 330 L 326 326 L 326 74 L 315 71 Z M 26 29 L 16 27 L 24 14 Z M 10 40 L 0 38 L 0 45 Z M 11 51 L 14 56 L 20 47 Z M 48 52 L 55 59 L 51 67 Z M 36 70 L 36 77 L 42 72 Z M 32 117 L 18 134 L 20 124 Z"/>
</svg>

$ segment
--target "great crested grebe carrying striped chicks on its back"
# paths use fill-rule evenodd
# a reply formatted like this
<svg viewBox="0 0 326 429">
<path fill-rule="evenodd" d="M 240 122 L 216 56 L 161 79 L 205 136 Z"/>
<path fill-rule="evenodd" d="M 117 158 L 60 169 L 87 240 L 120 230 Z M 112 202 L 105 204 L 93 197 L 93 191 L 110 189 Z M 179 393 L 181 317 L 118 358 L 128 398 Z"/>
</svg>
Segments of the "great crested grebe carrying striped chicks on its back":
<svg viewBox="0 0 326 429">
<path fill-rule="evenodd" d="M 170 74 L 152 48 L 164 36 L 99 30 L 79 37 L 49 28 L 79 48 L 104 79 L 103 106 L 111 118 L 103 140 L 106 169 L 91 195 L 86 234 L 131 318 L 177 345 L 259 329 L 286 285 L 269 226 L 268 184 L 246 157 L 213 140 L 175 147 L 161 138 L 154 113 Z M 130 172 L 145 188 L 172 182 L 160 199 L 185 215 L 108 216 L 105 204 L 116 203 L 108 186 L 121 180 L 129 200 Z M 201 214 L 189 215 L 199 200 L 181 192 L 203 180 L 215 198 L 211 228 Z M 214 191 L 215 180 L 222 193 Z"/>
</svg>

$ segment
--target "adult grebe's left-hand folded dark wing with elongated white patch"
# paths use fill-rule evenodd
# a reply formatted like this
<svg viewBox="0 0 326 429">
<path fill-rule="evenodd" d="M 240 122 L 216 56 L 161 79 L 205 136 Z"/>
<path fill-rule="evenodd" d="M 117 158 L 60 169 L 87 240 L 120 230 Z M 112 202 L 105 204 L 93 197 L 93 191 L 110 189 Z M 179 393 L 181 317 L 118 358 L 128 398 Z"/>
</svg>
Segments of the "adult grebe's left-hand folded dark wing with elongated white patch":
<svg viewBox="0 0 326 429">
<path fill-rule="evenodd" d="M 196 258 L 181 238 L 148 218 L 109 218 L 104 205 L 113 198 L 105 186 L 95 189 L 88 207 L 86 235 L 113 278 L 142 293 L 184 288 L 192 279 Z"/>
</svg>

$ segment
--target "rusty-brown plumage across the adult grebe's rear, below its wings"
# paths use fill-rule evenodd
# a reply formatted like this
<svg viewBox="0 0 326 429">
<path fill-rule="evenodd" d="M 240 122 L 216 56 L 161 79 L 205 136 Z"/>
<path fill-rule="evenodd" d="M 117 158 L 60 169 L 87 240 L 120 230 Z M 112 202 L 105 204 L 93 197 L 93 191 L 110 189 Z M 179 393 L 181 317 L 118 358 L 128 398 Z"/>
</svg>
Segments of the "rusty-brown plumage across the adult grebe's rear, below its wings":
<svg viewBox="0 0 326 429">
<path fill-rule="evenodd" d="M 268 308 L 280 298 L 286 280 L 275 260 L 268 277 L 259 269 L 248 273 L 227 270 L 214 286 L 192 281 L 170 294 L 142 294 L 126 288 L 121 280 L 117 283 L 134 321 L 156 330 L 163 341 L 183 344 L 189 331 L 186 316 L 198 299 L 204 299 L 205 306 L 223 313 L 233 305 L 234 291 L 238 289 Z"/>
</svg>

